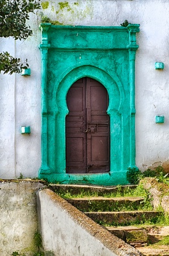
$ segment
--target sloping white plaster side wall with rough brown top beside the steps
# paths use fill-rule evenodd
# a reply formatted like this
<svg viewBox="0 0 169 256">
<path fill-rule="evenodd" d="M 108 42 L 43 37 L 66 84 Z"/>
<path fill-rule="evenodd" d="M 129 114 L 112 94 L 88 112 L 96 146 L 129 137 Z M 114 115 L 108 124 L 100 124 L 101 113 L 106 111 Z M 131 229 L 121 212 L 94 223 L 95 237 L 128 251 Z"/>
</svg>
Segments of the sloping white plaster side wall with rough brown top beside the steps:
<svg viewBox="0 0 169 256">
<path fill-rule="evenodd" d="M 56 256 L 141 255 L 50 189 L 37 196 L 44 251 Z"/>
</svg>

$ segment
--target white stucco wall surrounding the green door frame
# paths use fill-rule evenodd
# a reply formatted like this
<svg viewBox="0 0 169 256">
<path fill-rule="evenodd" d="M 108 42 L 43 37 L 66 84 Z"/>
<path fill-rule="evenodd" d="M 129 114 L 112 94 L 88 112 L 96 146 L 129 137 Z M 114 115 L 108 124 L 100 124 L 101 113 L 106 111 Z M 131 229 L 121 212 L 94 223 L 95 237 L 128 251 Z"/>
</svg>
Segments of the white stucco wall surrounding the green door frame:
<svg viewBox="0 0 169 256">
<path fill-rule="evenodd" d="M 46 2 L 46 1 L 41 1 Z M 66 1 L 65 1 L 66 2 Z M 0 77 L 0 177 L 20 175 L 35 177 L 41 163 L 41 57 L 40 11 L 63 24 L 87 26 L 119 26 L 127 19 L 140 23 L 136 57 L 136 164 L 145 170 L 154 163 L 169 163 L 168 154 L 168 0 L 67 0 L 49 1 L 47 9 L 31 15 L 33 36 L 26 41 L 0 39 L 0 51 L 28 59 L 31 76 Z M 47 6 L 45 6 L 47 7 Z M 155 70 L 162 61 L 164 70 Z M 155 123 L 155 115 L 164 115 L 163 124 Z M 31 135 L 20 134 L 20 126 L 31 126 Z M 169 167 L 168 167 L 169 168 Z"/>
</svg>

